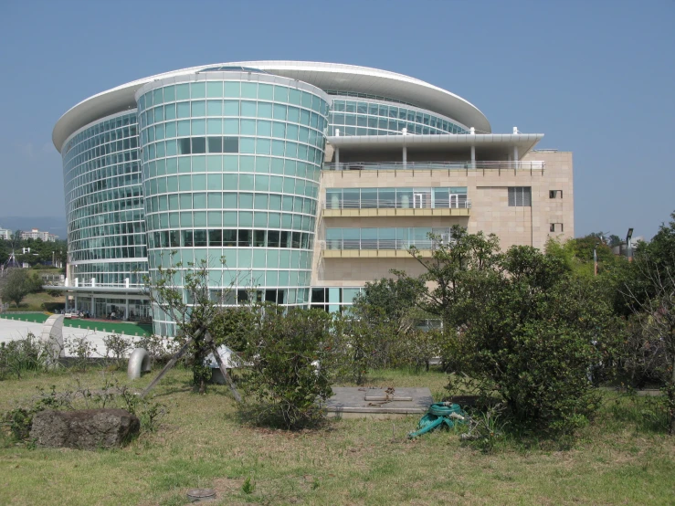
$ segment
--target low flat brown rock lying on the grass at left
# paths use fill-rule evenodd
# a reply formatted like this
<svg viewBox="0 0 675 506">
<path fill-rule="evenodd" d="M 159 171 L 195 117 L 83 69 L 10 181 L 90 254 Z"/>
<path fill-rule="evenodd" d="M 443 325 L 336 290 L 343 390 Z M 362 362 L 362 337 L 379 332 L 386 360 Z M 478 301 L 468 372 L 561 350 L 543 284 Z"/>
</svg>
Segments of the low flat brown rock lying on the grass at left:
<svg viewBox="0 0 675 506">
<path fill-rule="evenodd" d="M 141 423 L 123 409 L 47 409 L 33 416 L 30 437 L 38 447 L 99 449 L 121 447 Z"/>
</svg>

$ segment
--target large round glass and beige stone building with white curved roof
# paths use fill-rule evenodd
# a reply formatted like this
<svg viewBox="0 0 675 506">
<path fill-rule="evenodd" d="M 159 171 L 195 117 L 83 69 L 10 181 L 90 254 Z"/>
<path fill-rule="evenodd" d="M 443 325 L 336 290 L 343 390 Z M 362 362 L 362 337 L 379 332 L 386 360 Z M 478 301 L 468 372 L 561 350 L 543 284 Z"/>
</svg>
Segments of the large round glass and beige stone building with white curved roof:
<svg viewBox="0 0 675 506">
<path fill-rule="evenodd" d="M 572 236 L 571 154 L 533 151 L 541 138 L 493 134 L 447 90 L 349 65 L 237 62 L 133 81 L 54 129 L 63 290 L 81 311 L 152 317 L 172 335 L 142 279 L 206 262 L 223 304 L 340 311 L 366 281 L 418 269 L 406 248 L 430 252 L 428 234 L 449 239 L 452 225 L 504 246 Z"/>
</svg>

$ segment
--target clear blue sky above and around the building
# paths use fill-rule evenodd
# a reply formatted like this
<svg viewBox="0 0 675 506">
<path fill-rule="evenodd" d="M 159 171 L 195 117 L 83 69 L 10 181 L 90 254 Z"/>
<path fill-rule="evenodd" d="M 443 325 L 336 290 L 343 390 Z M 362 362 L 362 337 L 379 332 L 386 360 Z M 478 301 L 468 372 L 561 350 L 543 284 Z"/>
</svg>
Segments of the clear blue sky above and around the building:
<svg viewBox="0 0 675 506">
<path fill-rule="evenodd" d="M 385 69 L 574 153 L 575 235 L 652 237 L 675 211 L 675 2 L 3 0 L 0 216 L 65 221 L 58 118 L 125 82 L 297 59 Z M 2 223 L 0 222 L 0 226 Z"/>
</svg>

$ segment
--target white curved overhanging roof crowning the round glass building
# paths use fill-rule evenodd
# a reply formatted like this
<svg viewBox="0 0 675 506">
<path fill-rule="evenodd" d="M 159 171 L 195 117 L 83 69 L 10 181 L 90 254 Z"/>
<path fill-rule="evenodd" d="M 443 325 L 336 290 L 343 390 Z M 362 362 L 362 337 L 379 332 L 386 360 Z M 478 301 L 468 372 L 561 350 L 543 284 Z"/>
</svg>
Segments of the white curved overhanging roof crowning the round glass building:
<svg viewBox="0 0 675 506">
<path fill-rule="evenodd" d="M 354 65 L 318 63 L 308 61 L 239 61 L 202 65 L 189 69 L 174 70 L 135 80 L 112 90 L 103 91 L 89 99 L 82 100 L 57 121 L 52 132 L 52 141 L 61 151 L 69 136 L 92 121 L 115 112 L 136 108 L 134 93 L 144 84 L 156 79 L 192 74 L 218 66 L 241 66 L 265 70 L 270 74 L 298 79 L 322 90 L 343 90 L 378 95 L 408 102 L 429 111 L 448 116 L 479 132 L 490 133 L 490 121 L 480 110 L 454 93 L 442 90 L 427 82 L 388 72 Z"/>
</svg>

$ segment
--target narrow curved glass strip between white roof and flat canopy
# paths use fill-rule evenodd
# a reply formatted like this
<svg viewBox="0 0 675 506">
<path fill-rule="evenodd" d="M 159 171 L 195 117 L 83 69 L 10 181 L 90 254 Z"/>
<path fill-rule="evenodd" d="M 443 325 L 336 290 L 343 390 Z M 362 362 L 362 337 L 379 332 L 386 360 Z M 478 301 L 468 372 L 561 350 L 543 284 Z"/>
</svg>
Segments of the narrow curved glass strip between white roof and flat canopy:
<svg viewBox="0 0 675 506">
<path fill-rule="evenodd" d="M 336 97 L 332 100 L 329 135 L 401 135 L 469 133 L 457 121 L 430 111 L 383 100 Z"/>
</svg>

